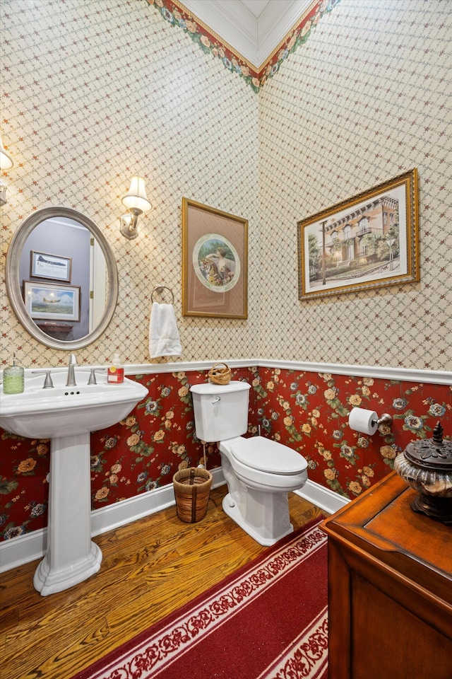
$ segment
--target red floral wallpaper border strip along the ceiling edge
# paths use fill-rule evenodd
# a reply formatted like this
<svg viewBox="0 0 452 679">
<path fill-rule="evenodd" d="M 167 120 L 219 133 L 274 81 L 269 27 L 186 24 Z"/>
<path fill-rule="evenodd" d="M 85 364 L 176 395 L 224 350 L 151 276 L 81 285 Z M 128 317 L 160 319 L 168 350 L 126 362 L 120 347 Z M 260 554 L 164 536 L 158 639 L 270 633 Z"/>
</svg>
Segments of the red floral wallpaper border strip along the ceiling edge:
<svg viewBox="0 0 452 679">
<path fill-rule="evenodd" d="M 313 0 L 304 12 L 302 18 L 290 30 L 284 40 L 273 50 L 267 61 L 258 70 L 251 62 L 242 57 L 239 52 L 227 44 L 225 40 L 211 30 L 198 17 L 191 13 L 178 0 L 145 0 L 153 6 L 169 23 L 182 28 L 205 54 L 211 54 L 220 59 L 222 65 L 231 73 L 238 74 L 256 93 L 263 87 L 268 78 L 278 73 L 280 65 L 293 54 L 299 45 L 304 44 L 319 23 L 322 16 L 331 12 L 340 0 Z"/>
</svg>

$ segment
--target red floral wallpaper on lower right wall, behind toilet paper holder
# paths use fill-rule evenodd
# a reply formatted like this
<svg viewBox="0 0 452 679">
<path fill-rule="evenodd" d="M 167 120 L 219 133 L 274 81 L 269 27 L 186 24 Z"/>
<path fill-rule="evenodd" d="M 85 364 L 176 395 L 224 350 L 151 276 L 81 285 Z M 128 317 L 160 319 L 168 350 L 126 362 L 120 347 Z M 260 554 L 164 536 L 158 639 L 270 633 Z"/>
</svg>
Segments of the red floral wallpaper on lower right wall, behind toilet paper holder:
<svg viewBox="0 0 452 679">
<path fill-rule="evenodd" d="M 351 499 L 393 470 L 410 441 L 431 438 L 438 420 L 452 434 L 447 385 L 260 368 L 254 389 L 263 436 L 302 453 L 311 481 Z M 352 407 L 388 412 L 393 424 L 374 436 L 352 431 Z"/>
</svg>

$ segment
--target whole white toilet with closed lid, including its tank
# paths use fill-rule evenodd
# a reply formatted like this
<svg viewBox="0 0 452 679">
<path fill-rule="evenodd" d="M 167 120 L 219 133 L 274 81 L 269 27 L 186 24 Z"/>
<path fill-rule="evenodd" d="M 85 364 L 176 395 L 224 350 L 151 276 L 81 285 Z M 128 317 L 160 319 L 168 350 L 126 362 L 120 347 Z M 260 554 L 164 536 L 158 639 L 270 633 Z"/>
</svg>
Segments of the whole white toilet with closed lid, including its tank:
<svg viewBox="0 0 452 679">
<path fill-rule="evenodd" d="M 292 448 L 263 436 L 244 439 L 250 385 L 232 381 L 191 387 L 196 436 L 217 442 L 228 493 L 227 516 L 261 545 L 292 533 L 287 493 L 307 481 L 307 461 Z"/>
</svg>

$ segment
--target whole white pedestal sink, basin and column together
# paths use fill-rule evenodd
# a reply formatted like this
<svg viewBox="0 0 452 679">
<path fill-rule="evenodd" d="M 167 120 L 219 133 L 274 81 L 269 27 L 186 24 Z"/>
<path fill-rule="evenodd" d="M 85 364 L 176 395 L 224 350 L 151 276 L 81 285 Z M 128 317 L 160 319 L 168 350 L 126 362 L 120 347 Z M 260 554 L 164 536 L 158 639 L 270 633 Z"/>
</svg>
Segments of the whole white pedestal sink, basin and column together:
<svg viewBox="0 0 452 679">
<path fill-rule="evenodd" d="M 49 370 L 49 368 L 46 368 Z M 53 388 L 44 377 L 25 373 L 22 394 L 1 394 L 0 426 L 50 445 L 47 553 L 33 584 L 42 596 L 63 591 L 100 569 L 102 552 L 91 540 L 90 432 L 116 424 L 148 390 L 127 378 L 107 384 L 90 368 L 76 368 L 77 386 L 66 387 L 67 371 L 52 371 Z"/>
</svg>

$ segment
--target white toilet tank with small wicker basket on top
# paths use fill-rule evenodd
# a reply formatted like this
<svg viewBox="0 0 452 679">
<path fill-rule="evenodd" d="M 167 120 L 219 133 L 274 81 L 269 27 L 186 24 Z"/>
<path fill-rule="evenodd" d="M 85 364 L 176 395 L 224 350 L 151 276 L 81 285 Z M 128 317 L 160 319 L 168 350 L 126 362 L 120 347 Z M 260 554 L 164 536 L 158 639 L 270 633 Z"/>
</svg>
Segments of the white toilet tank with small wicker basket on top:
<svg viewBox="0 0 452 679">
<path fill-rule="evenodd" d="M 196 436 L 201 441 L 225 441 L 242 436 L 248 429 L 250 385 L 231 381 L 229 384 L 194 384 L 193 396 Z"/>
</svg>

